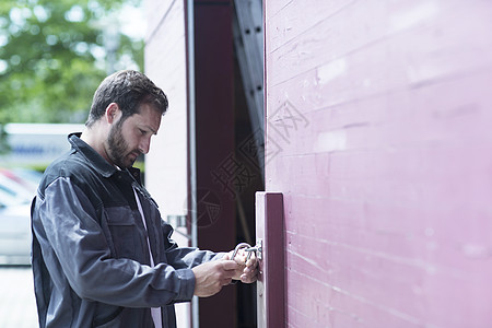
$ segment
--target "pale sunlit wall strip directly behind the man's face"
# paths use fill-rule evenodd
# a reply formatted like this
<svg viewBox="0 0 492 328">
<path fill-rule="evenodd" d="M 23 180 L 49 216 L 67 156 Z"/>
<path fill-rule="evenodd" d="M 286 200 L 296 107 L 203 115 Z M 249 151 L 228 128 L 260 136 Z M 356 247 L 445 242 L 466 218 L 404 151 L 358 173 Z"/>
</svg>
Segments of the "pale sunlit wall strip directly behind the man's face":
<svg viewBox="0 0 492 328">
<path fill-rule="evenodd" d="M 145 155 L 145 186 L 162 218 L 185 215 L 188 198 L 188 113 L 185 1 L 147 0 L 145 74 L 167 95 L 169 108 Z M 183 231 L 186 233 L 186 231 Z M 179 246 L 188 239 L 174 233 Z M 190 305 L 176 305 L 178 327 L 190 327 Z"/>
</svg>

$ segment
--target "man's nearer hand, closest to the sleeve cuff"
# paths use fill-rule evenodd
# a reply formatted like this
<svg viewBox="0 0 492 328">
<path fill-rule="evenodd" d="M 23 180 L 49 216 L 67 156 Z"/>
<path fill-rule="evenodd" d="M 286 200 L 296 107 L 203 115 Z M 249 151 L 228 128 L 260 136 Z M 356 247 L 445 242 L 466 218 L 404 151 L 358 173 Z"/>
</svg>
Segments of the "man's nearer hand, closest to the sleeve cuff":
<svg viewBox="0 0 492 328">
<path fill-rule="evenodd" d="M 232 260 L 218 260 L 192 268 L 195 273 L 195 295 L 208 297 L 219 293 L 231 283 L 238 265 Z"/>
</svg>

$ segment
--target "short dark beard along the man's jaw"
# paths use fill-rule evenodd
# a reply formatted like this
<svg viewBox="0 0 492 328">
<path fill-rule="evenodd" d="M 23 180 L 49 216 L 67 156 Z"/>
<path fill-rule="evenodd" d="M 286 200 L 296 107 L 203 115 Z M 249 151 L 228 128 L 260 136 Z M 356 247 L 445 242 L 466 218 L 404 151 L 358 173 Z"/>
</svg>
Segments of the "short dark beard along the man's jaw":
<svg viewBox="0 0 492 328">
<path fill-rule="evenodd" d="M 128 143 L 121 133 L 122 122 L 124 119 L 120 119 L 109 130 L 109 136 L 107 137 L 107 155 L 113 164 L 119 168 L 128 168 L 133 165 L 141 152 L 139 150 L 129 151 Z"/>
</svg>

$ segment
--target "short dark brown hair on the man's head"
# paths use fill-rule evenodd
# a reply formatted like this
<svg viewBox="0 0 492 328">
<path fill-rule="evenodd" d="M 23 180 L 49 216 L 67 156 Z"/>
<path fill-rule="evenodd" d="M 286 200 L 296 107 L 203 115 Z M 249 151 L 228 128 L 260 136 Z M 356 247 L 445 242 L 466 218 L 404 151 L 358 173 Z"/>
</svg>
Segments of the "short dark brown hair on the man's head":
<svg viewBox="0 0 492 328">
<path fill-rule="evenodd" d="M 101 82 L 94 93 L 85 126 L 91 127 L 97 121 L 110 103 L 118 104 L 121 109 L 121 121 L 138 114 L 142 104 L 152 105 L 162 115 L 168 106 L 164 92 L 143 73 L 132 70 L 119 71 Z"/>
</svg>

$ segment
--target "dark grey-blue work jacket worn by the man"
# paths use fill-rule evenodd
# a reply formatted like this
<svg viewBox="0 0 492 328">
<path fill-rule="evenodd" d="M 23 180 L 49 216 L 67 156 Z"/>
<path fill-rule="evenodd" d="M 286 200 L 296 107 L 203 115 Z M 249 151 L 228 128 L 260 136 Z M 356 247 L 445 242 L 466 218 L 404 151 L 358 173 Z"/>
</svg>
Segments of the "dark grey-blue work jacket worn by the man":
<svg viewBox="0 0 492 328">
<path fill-rule="evenodd" d="M 176 327 L 173 304 L 194 295 L 190 268 L 222 254 L 177 247 L 140 172 L 115 168 L 79 136 L 69 136 L 71 151 L 46 169 L 33 200 L 39 326 L 153 327 L 150 307 L 162 307 L 163 327 Z"/>
</svg>

